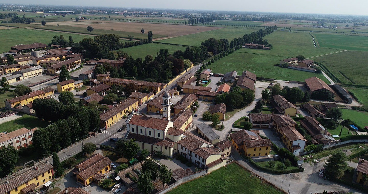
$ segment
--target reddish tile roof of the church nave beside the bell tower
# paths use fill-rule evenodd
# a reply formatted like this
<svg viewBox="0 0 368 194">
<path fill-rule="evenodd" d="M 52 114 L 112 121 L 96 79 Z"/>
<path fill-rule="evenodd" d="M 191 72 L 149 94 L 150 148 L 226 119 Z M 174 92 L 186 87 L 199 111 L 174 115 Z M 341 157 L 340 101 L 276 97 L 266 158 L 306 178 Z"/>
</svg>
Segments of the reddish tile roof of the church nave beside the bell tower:
<svg viewBox="0 0 368 194">
<path fill-rule="evenodd" d="M 128 123 L 131 125 L 149 127 L 151 129 L 164 131 L 166 129 L 166 126 L 169 124 L 169 121 L 149 116 L 133 114 Z"/>
</svg>

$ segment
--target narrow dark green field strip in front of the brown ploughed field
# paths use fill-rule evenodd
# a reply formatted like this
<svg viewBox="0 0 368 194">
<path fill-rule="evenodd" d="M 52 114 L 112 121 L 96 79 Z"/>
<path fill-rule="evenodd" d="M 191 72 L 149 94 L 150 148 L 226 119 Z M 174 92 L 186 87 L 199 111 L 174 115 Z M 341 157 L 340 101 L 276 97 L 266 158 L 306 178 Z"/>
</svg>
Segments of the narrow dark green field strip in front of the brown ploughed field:
<svg viewBox="0 0 368 194">
<path fill-rule="evenodd" d="M 119 22 L 119 23 L 123 23 L 123 22 Z M 109 24 L 114 24 L 114 23 L 109 23 Z M 87 26 L 89 25 L 91 24 L 86 25 L 85 28 L 75 27 L 77 25 L 73 25 L 73 26 L 42 26 L 42 27 L 37 27 L 37 29 L 54 30 L 54 31 L 60 31 L 60 32 L 83 33 L 83 34 L 90 34 L 90 35 L 115 34 L 122 38 L 128 38 L 128 35 L 131 35 L 131 36 L 134 36 L 134 39 L 147 39 L 148 37 L 147 33 L 142 34 L 138 32 L 124 32 L 124 31 L 118 31 L 118 30 L 96 29 L 94 27 L 95 25 L 91 25 L 95 29 L 93 29 L 92 32 L 89 32 L 87 31 Z M 153 38 L 165 37 L 165 36 L 166 35 L 153 34 Z"/>
</svg>

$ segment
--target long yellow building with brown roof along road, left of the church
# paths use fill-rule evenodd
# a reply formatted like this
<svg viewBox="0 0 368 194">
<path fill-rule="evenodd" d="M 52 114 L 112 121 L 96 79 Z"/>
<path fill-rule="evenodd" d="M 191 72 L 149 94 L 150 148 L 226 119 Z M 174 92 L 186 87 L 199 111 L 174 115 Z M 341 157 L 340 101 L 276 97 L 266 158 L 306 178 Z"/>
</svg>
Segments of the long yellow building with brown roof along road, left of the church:
<svg viewBox="0 0 368 194">
<path fill-rule="evenodd" d="M 100 114 L 100 120 L 102 122 L 100 126 L 105 127 L 105 129 L 107 129 L 137 108 L 138 108 L 138 100 L 136 99 L 124 100 L 121 103 L 114 105 L 113 108 L 110 108 L 107 111 L 104 111 L 103 113 Z"/>
</svg>

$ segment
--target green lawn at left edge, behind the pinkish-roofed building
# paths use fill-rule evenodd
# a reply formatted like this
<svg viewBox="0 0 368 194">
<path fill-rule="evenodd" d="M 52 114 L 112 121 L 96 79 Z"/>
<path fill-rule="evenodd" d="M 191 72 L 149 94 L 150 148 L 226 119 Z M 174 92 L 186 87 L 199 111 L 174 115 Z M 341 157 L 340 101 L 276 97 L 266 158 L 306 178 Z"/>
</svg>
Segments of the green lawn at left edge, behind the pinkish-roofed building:
<svg viewBox="0 0 368 194">
<path fill-rule="evenodd" d="M 22 115 L 22 117 L 14 119 L 12 121 L 7 121 L 0 124 L 0 132 L 8 131 L 12 132 L 14 130 L 26 127 L 27 129 L 33 129 L 35 127 L 46 127 L 50 122 L 40 121 L 35 116 Z"/>
</svg>

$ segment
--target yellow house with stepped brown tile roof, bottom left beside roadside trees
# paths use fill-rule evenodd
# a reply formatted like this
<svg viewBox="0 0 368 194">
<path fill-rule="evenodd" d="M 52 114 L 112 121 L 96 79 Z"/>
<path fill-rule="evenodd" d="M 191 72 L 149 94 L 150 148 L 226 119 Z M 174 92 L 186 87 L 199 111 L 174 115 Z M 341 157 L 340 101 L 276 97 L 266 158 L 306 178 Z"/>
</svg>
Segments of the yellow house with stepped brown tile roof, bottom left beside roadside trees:
<svg viewBox="0 0 368 194">
<path fill-rule="evenodd" d="M 106 173 L 111 170 L 111 163 L 109 158 L 103 157 L 101 154 L 93 154 L 75 165 L 72 172 L 77 182 L 86 187 L 93 182 L 98 183 L 104 179 Z"/>
</svg>

